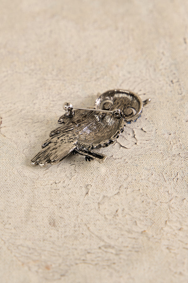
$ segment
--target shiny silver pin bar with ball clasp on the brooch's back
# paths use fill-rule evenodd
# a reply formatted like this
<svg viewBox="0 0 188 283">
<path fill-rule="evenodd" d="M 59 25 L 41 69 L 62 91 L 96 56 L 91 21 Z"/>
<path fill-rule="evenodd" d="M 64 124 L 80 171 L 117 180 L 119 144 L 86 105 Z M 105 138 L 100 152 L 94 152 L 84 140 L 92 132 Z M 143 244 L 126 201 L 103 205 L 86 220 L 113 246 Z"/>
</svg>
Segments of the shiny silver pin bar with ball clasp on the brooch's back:
<svg viewBox="0 0 188 283">
<path fill-rule="evenodd" d="M 74 115 L 74 111 L 72 111 L 73 109 L 107 112 L 107 113 L 111 113 L 113 117 L 117 119 L 121 118 L 123 115 L 120 109 L 115 109 L 111 111 L 111 110 L 92 109 L 92 108 L 80 108 L 80 107 L 74 107 L 73 104 L 70 102 L 65 102 L 63 109 L 66 111 L 65 116 L 73 116 Z"/>
</svg>

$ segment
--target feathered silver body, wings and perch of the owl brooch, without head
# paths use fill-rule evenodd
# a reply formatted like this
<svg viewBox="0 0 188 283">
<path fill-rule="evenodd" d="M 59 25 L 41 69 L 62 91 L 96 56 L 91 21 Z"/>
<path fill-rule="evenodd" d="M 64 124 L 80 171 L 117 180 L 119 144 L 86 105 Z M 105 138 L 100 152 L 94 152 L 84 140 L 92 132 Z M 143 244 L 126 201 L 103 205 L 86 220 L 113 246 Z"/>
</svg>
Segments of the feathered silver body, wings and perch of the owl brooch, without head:
<svg viewBox="0 0 188 283">
<path fill-rule="evenodd" d="M 116 119 L 109 113 L 89 110 L 76 110 L 72 117 L 63 115 L 59 123 L 63 125 L 50 132 L 50 138 L 32 158 L 31 165 L 54 164 L 70 153 L 84 155 L 87 161 L 96 159 L 103 162 L 106 155 L 93 150 L 115 142 L 125 124 L 123 119 Z"/>
</svg>

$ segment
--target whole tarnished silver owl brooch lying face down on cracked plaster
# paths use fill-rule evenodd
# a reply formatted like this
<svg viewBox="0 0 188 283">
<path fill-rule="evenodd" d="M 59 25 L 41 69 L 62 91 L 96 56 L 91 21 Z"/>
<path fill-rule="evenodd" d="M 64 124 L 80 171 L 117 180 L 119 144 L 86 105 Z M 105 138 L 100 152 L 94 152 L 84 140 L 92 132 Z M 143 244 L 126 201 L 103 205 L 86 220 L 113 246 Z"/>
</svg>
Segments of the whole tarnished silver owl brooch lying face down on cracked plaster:
<svg viewBox="0 0 188 283">
<path fill-rule="evenodd" d="M 50 132 L 31 165 L 60 162 L 70 153 L 84 155 L 86 161 L 103 162 L 107 156 L 94 150 L 115 142 L 126 123 L 136 121 L 149 101 L 142 102 L 130 91 L 110 90 L 96 99 L 94 108 L 78 108 L 66 102 L 66 113 L 58 120 L 63 125 Z"/>
</svg>

